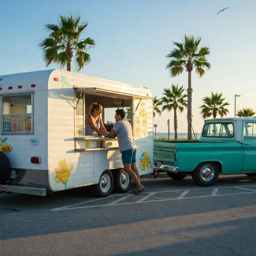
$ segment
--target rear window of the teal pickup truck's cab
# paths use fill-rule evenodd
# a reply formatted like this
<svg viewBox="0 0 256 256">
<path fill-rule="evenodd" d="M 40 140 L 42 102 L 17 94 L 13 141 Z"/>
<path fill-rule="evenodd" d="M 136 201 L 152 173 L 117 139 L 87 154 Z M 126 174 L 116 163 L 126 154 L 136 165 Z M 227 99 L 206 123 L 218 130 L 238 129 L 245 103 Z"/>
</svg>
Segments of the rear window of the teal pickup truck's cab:
<svg viewBox="0 0 256 256">
<path fill-rule="evenodd" d="M 207 123 L 204 125 L 203 137 L 234 137 L 233 123 Z"/>
</svg>

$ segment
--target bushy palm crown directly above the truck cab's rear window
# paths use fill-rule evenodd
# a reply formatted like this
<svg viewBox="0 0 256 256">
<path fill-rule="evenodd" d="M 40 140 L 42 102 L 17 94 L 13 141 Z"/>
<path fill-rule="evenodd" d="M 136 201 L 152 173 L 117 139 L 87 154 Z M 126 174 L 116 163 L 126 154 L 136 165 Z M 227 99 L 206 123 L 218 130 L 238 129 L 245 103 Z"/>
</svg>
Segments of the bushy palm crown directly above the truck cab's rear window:
<svg viewBox="0 0 256 256">
<path fill-rule="evenodd" d="M 204 104 L 201 105 L 201 115 L 203 119 L 210 116 L 216 118 L 217 114 L 221 117 L 227 116 L 229 112 L 226 106 L 230 105 L 228 102 L 224 102 L 225 98 L 222 98 L 222 93 L 212 93 L 211 97 L 205 96 L 203 99 Z"/>
</svg>

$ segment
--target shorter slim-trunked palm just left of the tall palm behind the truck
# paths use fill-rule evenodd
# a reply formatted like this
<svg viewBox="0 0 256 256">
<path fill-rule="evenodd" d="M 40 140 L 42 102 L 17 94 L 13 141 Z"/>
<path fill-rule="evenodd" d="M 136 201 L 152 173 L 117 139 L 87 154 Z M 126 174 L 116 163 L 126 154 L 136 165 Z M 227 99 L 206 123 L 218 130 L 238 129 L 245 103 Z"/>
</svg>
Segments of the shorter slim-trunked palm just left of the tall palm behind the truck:
<svg viewBox="0 0 256 256">
<path fill-rule="evenodd" d="M 178 84 L 175 86 L 172 84 L 172 90 L 169 88 L 163 89 L 163 95 L 165 95 L 163 98 L 161 98 L 162 103 L 164 106 L 162 107 L 162 111 L 171 111 L 174 110 L 174 132 L 175 132 L 175 140 L 178 139 L 177 136 L 177 109 L 180 111 L 180 113 L 183 112 L 184 107 L 187 107 L 187 95 L 183 94 L 183 91 L 185 89 L 183 86 L 178 87 Z"/>
</svg>

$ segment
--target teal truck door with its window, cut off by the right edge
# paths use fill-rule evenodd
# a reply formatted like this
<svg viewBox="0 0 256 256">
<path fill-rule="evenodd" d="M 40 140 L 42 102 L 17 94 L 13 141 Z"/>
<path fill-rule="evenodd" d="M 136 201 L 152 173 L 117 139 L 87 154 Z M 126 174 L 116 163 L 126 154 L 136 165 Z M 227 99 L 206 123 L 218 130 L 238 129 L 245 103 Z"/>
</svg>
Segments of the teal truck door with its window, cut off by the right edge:
<svg viewBox="0 0 256 256">
<path fill-rule="evenodd" d="M 244 172 L 256 172 L 256 121 L 244 121 Z"/>
</svg>

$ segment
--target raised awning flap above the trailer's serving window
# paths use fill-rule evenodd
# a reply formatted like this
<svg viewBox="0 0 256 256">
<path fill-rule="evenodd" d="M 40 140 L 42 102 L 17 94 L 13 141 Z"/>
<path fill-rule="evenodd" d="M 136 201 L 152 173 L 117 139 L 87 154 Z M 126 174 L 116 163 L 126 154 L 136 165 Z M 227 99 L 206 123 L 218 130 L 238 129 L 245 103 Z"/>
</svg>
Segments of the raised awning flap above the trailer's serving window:
<svg viewBox="0 0 256 256">
<path fill-rule="evenodd" d="M 76 92 L 92 94 L 92 95 L 99 95 L 99 96 L 104 96 L 104 97 L 114 98 L 114 99 L 120 99 L 120 97 L 122 97 L 122 99 L 154 99 L 150 96 L 134 95 L 131 93 L 105 90 L 105 89 L 96 88 L 96 87 L 76 87 L 76 86 L 74 86 L 74 88 L 75 88 Z"/>
</svg>

